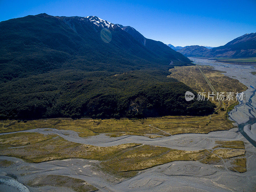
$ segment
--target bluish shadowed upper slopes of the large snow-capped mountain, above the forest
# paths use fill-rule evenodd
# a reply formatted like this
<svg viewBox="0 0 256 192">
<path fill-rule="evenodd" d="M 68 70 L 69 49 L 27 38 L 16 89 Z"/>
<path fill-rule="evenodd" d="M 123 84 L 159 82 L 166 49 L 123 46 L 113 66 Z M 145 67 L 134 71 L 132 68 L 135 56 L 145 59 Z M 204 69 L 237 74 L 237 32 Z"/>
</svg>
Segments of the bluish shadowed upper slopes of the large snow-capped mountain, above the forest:
<svg viewBox="0 0 256 192">
<path fill-rule="evenodd" d="M 2 21 L 1 75 L 10 80 L 24 75 L 24 70 L 26 74 L 58 68 L 122 72 L 125 69 L 168 66 L 171 60 L 173 63 L 177 61 L 178 65 L 190 62 L 171 48 L 167 51 L 168 57 L 158 54 L 158 50 L 154 52 L 154 47 L 149 50 L 129 33 L 110 24 L 92 16 L 53 17 L 47 14 Z M 101 39 L 103 28 L 111 32 L 109 43 Z M 10 73 L 11 65 L 20 70 Z"/>
</svg>

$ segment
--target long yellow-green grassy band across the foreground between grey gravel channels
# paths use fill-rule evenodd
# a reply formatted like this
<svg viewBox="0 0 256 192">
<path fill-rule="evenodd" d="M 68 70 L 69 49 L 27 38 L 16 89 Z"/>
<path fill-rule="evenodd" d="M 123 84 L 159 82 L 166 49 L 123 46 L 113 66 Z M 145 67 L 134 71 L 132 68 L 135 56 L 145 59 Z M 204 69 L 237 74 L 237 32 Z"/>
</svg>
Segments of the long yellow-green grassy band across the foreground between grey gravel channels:
<svg viewBox="0 0 256 192">
<path fill-rule="evenodd" d="M 245 154 L 245 150 L 240 148 L 184 151 L 137 143 L 97 147 L 70 142 L 55 135 L 44 136 L 37 133 L 34 137 L 42 141 L 33 142 L 34 139 L 28 134 L 28 138 L 30 138 L 28 141 L 31 144 L 26 145 L 22 142 L 24 135 L 21 133 L 1 135 L 0 144 L 3 146 L 1 155 L 14 156 L 34 163 L 66 158 L 100 160 L 104 170 L 126 177 L 133 176 L 138 170 L 172 161 L 200 160 L 202 163 L 219 164 L 221 162 L 220 157 L 229 161 L 230 158 Z M 45 137 L 48 139 L 43 140 Z M 24 147 L 8 148 L 11 145 L 8 142 L 19 143 L 19 145 L 23 143 L 22 146 Z"/>
</svg>

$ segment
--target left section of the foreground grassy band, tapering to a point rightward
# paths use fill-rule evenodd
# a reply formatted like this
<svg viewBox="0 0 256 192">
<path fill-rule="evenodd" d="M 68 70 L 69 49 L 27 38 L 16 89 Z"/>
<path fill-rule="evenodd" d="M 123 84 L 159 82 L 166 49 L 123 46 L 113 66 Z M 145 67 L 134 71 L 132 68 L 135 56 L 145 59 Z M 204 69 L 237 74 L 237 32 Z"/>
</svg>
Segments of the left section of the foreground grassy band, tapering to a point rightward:
<svg viewBox="0 0 256 192">
<path fill-rule="evenodd" d="M 25 133 L 28 138 L 31 134 Z M 15 156 L 28 162 L 39 163 L 54 159 L 66 158 L 86 158 L 95 160 L 107 160 L 118 153 L 122 153 L 127 148 L 139 146 L 140 144 L 129 143 L 113 147 L 97 147 L 64 140 L 57 135 L 47 135 L 35 133 L 34 139 L 31 139 L 30 145 L 25 144 L 24 134 L 12 133 L 0 136 L 1 155 Z M 45 139 L 46 138 L 46 139 Z M 35 141 L 35 142 L 33 142 Z M 14 143 L 14 145 L 12 145 Z M 24 148 L 8 148 L 10 146 L 24 146 Z"/>
</svg>

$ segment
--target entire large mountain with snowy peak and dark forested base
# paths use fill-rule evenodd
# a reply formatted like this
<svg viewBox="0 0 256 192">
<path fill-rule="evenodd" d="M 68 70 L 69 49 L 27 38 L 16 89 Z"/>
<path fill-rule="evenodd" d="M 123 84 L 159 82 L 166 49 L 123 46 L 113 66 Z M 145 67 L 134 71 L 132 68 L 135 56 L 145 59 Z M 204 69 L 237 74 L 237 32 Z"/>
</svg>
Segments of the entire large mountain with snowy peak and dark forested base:
<svg viewBox="0 0 256 192">
<path fill-rule="evenodd" d="M 95 16 L 45 13 L 0 22 L 0 118 L 205 115 L 208 101 L 167 78 L 191 61 Z M 144 43 L 143 43 L 144 42 Z M 172 63 L 172 65 L 170 65 Z M 194 94 L 196 94 L 194 92 Z"/>
</svg>

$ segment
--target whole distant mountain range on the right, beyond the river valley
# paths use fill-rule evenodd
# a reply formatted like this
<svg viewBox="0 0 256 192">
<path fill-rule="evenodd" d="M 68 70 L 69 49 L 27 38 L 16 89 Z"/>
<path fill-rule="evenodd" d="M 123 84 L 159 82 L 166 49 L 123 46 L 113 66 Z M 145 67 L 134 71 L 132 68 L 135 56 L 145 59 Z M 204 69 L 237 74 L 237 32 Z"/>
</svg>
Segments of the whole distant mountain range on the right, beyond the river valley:
<svg viewBox="0 0 256 192">
<path fill-rule="evenodd" d="M 177 50 L 187 57 L 256 57 L 256 33 L 244 34 L 227 44 L 207 49 L 204 46 L 192 45 Z"/>
</svg>

